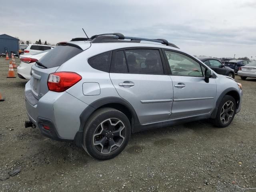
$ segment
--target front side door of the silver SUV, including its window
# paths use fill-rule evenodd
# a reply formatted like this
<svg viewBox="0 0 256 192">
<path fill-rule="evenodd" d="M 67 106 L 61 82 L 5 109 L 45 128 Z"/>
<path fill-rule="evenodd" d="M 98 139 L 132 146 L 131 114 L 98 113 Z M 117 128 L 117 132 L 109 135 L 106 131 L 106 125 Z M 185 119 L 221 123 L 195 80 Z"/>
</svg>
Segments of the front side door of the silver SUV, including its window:
<svg viewBox="0 0 256 192">
<path fill-rule="evenodd" d="M 216 99 L 216 81 L 204 81 L 205 66 L 180 52 L 164 50 L 170 66 L 174 98 L 170 119 L 209 113 Z"/>
</svg>

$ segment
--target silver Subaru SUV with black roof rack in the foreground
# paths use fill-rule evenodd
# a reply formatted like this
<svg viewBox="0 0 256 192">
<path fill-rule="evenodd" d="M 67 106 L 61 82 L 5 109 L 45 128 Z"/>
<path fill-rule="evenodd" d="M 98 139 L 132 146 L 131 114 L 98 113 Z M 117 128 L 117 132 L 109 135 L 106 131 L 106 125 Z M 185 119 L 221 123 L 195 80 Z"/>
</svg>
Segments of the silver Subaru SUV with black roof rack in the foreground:
<svg viewBox="0 0 256 192">
<path fill-rule="evenodd" d="M 25 126 L 100 160 L 149 128 L 206 118 L 226 127 L 242 102 L 241 84 L 176 45 L 120 33 L 60 42 L 31 75 Z"/>
</svg>

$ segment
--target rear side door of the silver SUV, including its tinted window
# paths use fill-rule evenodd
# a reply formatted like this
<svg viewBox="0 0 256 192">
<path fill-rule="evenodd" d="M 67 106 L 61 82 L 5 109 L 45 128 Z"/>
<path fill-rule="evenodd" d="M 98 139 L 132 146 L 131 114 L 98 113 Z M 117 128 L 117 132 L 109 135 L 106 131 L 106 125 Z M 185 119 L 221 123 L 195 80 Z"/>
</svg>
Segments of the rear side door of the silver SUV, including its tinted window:
<svg viewBox="0 0 256 192">
<path fill-rule="evenodd" d="M 162 56 L 158 48 L 129 48 L 112 54 L 110 79 L 141 124 L 167 120 L 171 114 L 173 88 Z"/>
</svg>

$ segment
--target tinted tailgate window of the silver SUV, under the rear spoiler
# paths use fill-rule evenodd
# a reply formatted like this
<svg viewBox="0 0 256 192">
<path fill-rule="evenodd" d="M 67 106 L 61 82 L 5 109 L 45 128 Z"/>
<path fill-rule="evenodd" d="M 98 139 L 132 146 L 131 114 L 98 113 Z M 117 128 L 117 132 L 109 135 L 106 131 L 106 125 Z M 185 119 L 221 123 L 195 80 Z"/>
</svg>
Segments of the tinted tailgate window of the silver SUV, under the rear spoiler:
<svg viewBox="0 0 256 192">
<path fill-rule="evenodd" d="M 56 46 L 39 61 L 47 68 L 61 66 L 67 60 L 81 53 L 83 50 L 73 46 Z"/>
</svg>

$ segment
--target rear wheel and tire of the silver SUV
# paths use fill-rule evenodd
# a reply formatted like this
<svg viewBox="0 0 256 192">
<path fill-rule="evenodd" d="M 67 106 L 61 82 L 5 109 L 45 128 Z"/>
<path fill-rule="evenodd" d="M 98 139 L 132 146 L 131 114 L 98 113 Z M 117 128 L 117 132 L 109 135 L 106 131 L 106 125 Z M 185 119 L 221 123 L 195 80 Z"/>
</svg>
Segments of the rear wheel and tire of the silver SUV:
<svg viewBox="0 0 256 192">
<path fill-rule="evenodd" d="M 94 112 L 85 125 L 83 147 L 98 160 L 111 159 L 124 150 L 130 134 L 130 122 L 125 114 L 102 108 Z"/>
</svg>

